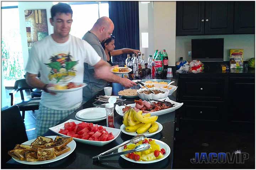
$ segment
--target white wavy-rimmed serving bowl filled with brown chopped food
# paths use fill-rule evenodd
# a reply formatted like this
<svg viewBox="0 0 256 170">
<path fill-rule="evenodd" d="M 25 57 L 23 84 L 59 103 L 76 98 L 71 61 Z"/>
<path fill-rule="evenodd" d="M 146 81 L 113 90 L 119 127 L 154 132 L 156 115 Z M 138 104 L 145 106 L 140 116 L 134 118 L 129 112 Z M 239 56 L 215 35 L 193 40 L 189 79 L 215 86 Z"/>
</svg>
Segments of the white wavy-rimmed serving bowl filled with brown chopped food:
<svg viewBox="0 0 256 170">
<path fill-rule="evenodd" d="M 147 95 L 145 93 L 140 93 L 140 92 L 142 92 L 144 90 L 148 90 L 147 88 L 144 88 L 144 89 L 137 90 L 137 94 L 138 94 L 139 98 L 141 98 L 142 100 L 148 100 L 149 98 L 158 100 L 158 99 L 161 99 L 161 98 L 166 98 L 169 95 L 169 90 L 168 89 L 164 89 L 162 87 L 160 87 L 160 88 L 151 87 L 149 89 L 151 89 L 151 90 L 160 90 L 160 91 L 164 91 L 165 93 L 159 93 L 157 95 L 152 94 L 152 93 L 149 94 L 149 95 Z"/>
</svg>

